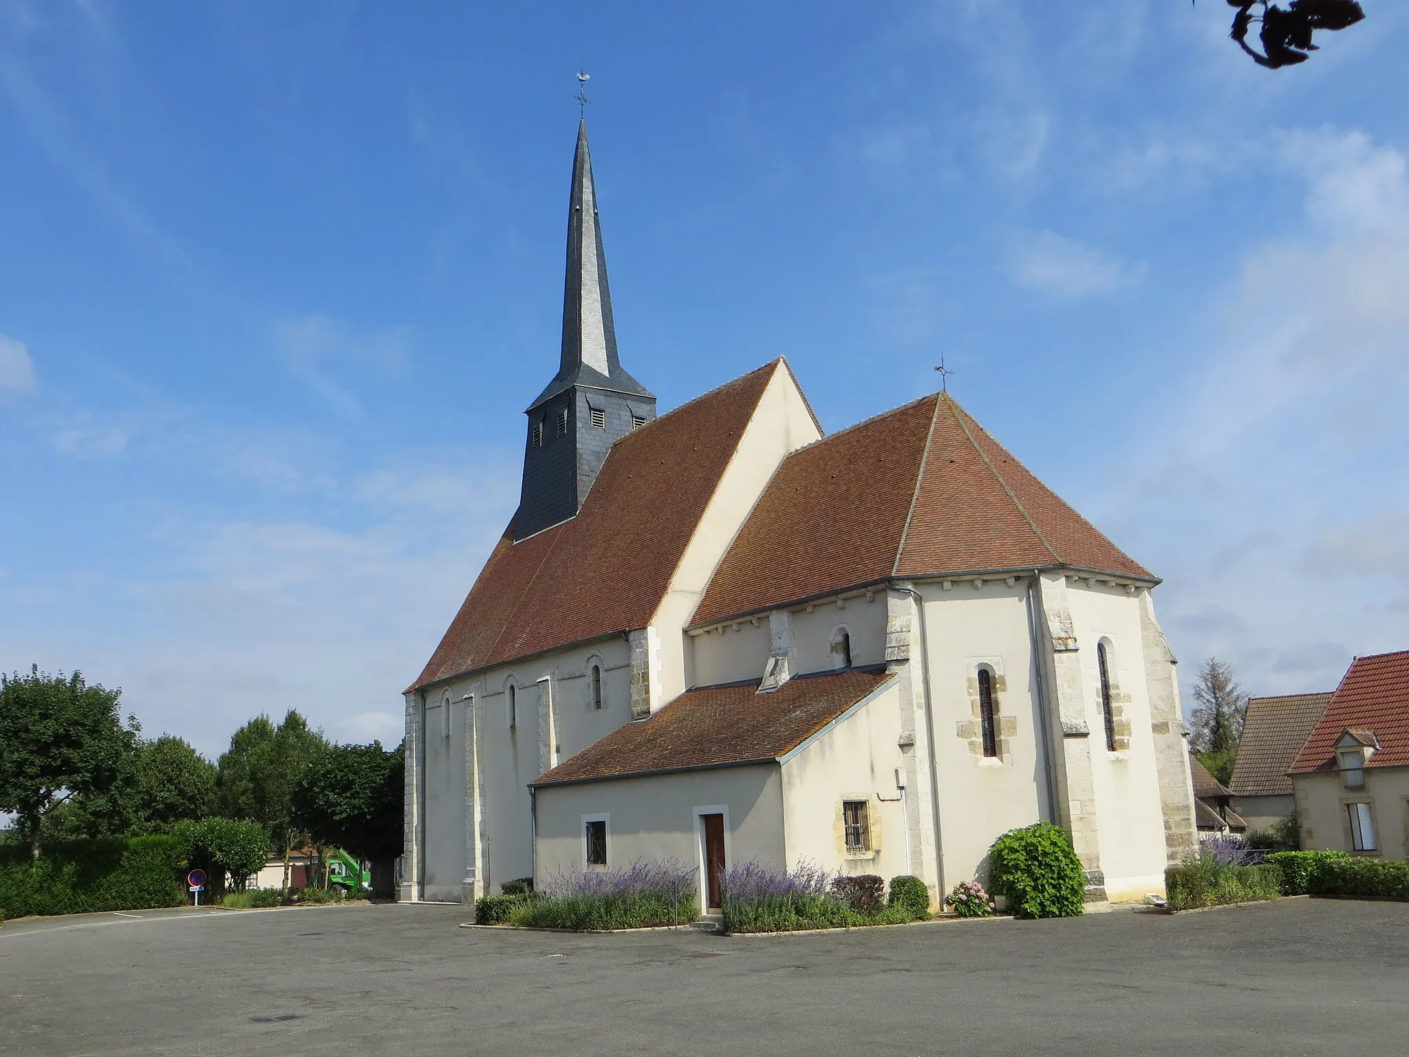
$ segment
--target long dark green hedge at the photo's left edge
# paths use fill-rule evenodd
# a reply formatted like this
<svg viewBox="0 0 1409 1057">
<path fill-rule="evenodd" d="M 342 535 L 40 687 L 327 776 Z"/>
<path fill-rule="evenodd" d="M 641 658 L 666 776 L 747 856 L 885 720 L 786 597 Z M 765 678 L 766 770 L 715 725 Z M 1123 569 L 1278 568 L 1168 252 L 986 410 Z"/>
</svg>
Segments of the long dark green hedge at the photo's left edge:
<svg viewBox="0 0 1409 1057">
<path fill-rule="evenodd" d="M 0 908 L 7 917 L 180 906 L 185 860 L 168 836 L 0 847 Z"/>
</svg>

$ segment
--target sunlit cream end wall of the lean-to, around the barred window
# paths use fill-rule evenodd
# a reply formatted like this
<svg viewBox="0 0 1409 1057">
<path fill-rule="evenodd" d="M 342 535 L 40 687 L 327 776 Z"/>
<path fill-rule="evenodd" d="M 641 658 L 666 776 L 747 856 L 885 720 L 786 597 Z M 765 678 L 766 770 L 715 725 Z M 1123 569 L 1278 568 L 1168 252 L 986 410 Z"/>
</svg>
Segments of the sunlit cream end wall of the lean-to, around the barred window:
<svg viewBox="0 0 1409 1057">
<path fill-rule="evenodd" d="M 905 815 L 895 772 L 903 767 L 900 691 L 886 686 L 782 767 L 788 867 L 813 863 L 840 874 L 910 872 Z M 874 851 L 848 855 L 841 829 L 843 801 L 867 801 Z M 923 808 L 921 808 L 923 809 Z"/>
</svg>

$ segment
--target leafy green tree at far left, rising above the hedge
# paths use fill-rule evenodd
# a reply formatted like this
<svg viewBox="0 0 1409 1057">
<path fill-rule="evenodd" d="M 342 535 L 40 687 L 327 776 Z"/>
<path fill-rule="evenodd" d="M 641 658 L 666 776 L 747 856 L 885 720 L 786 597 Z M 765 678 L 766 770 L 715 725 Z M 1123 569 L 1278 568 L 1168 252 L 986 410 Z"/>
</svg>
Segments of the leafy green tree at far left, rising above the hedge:
<svg viewBox="0 0 1409 1057">
<path fill-rule="evenodd" d="M 121 774 L 141 727 L 118 716 L 121 691 L 82 672 L 0 675 L 0 810 L 14 812 L 34 858 L 45 816 L 76 796 L 101 796 Z"/>
</svg>

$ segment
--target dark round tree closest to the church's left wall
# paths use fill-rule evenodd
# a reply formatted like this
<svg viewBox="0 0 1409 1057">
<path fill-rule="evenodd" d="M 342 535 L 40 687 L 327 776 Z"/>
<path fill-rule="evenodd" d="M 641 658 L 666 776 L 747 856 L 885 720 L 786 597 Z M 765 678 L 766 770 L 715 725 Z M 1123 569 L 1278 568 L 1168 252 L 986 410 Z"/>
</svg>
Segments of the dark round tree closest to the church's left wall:
<svg viewBox="0 0 1409 1057">
<path fill-rule="evenodd" d="M 372 894 L 390 898 L 402 854 L 406 753 L 369 746 L 331 746 L 303 774 L 296 823 L 318 844 L 333 844 L 372 863 Z"/>
</svg>

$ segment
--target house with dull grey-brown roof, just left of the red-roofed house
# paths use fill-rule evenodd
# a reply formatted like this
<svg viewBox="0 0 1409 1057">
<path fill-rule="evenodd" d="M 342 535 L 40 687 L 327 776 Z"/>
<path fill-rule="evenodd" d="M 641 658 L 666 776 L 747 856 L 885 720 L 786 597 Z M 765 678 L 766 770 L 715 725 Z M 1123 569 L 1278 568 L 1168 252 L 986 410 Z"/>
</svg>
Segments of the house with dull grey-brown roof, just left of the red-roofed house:
<svg viewBox="0 0 1409 1057">
<path fill-rule="evenodd" d="M 1229 777 L 1233 793 L 1229 806 L 1250 830 L 1271 829 L 1296 808 L 1288 771 L 1326 715 L 1330 696 L 1291 693 L 1248 699 L 1237 760 Z"/>
</svg>

